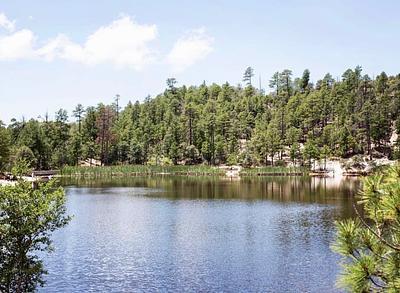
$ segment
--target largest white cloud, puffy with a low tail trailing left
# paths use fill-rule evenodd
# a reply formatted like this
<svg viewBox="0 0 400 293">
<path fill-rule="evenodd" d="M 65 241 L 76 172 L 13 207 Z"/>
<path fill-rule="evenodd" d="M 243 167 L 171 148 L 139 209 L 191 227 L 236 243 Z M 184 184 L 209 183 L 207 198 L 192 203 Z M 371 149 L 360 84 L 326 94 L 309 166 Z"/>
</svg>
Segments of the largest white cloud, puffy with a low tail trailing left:
<svg viewBox="0 0 400 293">
<path fill-rule="evenodd" d="M 141 69 L 154 61 L 155 54 L 148 43 L 156 37 L 155 25 L 140 25 L 125 16 L 100 27 L 83 45 L 59 35 L 40 48 L 38 54 L 47 60 L 61 58 L 88 65 L 111 63 Z"/>
</svg>

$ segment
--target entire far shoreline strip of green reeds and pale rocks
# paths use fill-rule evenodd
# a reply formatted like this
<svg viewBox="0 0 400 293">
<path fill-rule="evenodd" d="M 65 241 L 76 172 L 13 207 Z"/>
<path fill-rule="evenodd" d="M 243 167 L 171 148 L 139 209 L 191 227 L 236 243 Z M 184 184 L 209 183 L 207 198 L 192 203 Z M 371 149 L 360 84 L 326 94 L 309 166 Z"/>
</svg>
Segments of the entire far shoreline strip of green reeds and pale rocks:
<svg viewBox="0 0 400 293">
<path fill-rule="evenodd" d="M 114 166 L 66 166 L 57 175 L 32 177 L 24 176 L 25 181 L 46 181 L 50 178 L 112 178 L 112 177 L 140 177 L 140 176 L 204 176 L 219 178 L 249 178 L 249 177 L 319 177 L 341 180 L 345 177 L 364 177 L 372 173 L 370 164 L 375 166 L 391 165 L 395 161 L 377 159 L 365 164 L 362 169 L 348 168 L 352 159 L 331 159 L 322 164 L 316 164 L 315 169 L 293 166 L 261 166 L 243 168 L 242 166 L 208 166 L 208 165 L 114 165 Z M 325 170 L 323 170 L 326 167 Z M 44 171 L 45 172 L 45 171 Z M 43 173 L 39 171 L 38 173 Z M 16 180 L 0 179 L 0 186 L 13 185 Z"/>
</svg>

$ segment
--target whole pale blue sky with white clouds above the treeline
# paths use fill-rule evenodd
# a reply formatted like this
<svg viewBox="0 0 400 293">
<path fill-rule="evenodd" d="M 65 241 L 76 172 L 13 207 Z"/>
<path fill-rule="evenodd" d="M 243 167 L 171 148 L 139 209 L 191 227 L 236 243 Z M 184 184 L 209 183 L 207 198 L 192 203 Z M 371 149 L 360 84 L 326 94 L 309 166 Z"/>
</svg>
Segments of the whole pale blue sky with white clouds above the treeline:
<svg viewBox="0 0 400 293">
<path fill-rule="evenodd" d="M 262 86 L 277 70 L 316 81 L 363 67 L 400 72 L 398 1 L 3 0 L 0 120 L 122 103 L 179 84 Z"/>
</svg>

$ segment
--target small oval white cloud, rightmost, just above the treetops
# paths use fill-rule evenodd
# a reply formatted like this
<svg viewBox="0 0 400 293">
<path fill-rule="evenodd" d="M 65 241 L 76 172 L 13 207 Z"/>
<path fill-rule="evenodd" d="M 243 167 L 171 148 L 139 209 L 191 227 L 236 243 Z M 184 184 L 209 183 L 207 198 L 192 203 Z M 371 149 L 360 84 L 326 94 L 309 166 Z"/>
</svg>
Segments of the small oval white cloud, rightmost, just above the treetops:
<svg viewBox="0 0 400 293">
<path fill-rule="evenodd" d="M 175 42 L 167 62 L 175 72 L 181 72 L 210 54 L 212 42 L 204 28 L 193 30 Z"/>
</svg>

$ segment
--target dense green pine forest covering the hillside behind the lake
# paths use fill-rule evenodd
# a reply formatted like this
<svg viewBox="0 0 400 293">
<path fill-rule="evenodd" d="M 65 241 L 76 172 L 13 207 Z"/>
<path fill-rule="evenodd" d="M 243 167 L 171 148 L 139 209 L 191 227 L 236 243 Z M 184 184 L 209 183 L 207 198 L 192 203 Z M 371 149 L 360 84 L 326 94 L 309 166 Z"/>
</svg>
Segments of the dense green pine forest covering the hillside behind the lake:
<svg viewBox="0 0 400 293">
<path fill-rule="evenodd" d="M 110 105 L 60 109 L 0 127 L 0 168 L 23 162 L 48 169 L 95 158 L 102 164 L 306 165 L 330 156 L 398 158 L 400 75 L 371 78 L 361 67 L 315 84 L 305 70 L 276 72 L 270 93 L 243 85 L 178 86 L 124 109 Z"/>
</svg>

